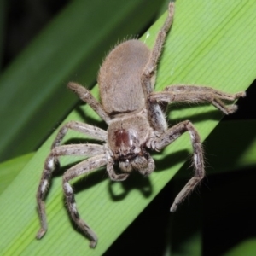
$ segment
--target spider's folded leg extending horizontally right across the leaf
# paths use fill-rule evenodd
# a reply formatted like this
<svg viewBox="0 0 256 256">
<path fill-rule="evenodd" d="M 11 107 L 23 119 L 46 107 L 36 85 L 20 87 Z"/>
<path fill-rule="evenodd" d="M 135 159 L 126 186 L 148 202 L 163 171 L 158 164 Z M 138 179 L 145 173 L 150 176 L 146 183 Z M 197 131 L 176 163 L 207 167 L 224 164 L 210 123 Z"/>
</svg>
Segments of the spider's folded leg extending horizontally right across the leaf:
<svg viewBox="0 0 256 256">
<path fill-rule="evenodd" d="M 236 105 L 226 106 L 223 101 L 235 101 L 240 97 L 246 96 L 241 91 L 235 94 L 225 93 L 215 90 L 211 87 L 198 85 L 177 84 L 167 86 L 164 91 L 152 92 L 149 96 L 151 102 L 189 102 L 189 103 L 212 103 L 225 114 L 234 113 L 237 109 Z"/>
</svg>

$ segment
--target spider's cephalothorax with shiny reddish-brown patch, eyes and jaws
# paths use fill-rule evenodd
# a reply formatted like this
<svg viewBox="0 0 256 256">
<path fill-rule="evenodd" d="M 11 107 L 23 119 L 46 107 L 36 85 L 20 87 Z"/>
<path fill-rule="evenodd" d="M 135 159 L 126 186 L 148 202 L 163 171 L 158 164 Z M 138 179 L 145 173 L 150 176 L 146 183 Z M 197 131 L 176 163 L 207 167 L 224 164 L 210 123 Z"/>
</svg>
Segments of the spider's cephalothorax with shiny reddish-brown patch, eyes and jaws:
<svg viewBox="0 0 256 256">
<path fill-rule="evenodd" d="M 119 161 L 121 171 L 148 169 L 148 153 L 144 148 L 153 130 L 147 127 L 150 127 L 148 119 L 142 113 L 135 113 L 128 118 L 119 116 L 110 122 L 108 146 L 113 159 Z"/>
</svg>

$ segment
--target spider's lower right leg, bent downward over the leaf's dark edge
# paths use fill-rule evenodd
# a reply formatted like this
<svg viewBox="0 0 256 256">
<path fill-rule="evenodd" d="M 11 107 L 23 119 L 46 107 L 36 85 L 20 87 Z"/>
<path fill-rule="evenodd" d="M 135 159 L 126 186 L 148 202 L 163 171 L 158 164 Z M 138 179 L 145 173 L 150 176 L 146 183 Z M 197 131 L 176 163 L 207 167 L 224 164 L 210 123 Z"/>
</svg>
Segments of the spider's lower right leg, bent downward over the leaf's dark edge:
<svg viewBox="0 0 256 256">
<path fill-rule="evenodd" d="M 160 151 L 162 148 L 165 148 L 167 145 L 174 142 L 186 131 L 189 131 L 189 136 L 193 146 L 195 175 L 176 196 L 171 207 L 171 212 L 176 211 L 177 206 L 189 195 L 190 192 L 192 192 L 193 189 L 195 189 L 198 184 L 200 184 L 202 178 L 205 176 L 204 158 L 200 136 L 190 121 L 183 121 L 177 125 L 174 125 L 172 128 L 169 128 L 160 137 L 155 138 L 154 141 L 150 142 L 149 146 L 149 148 Z"/>
</svg>

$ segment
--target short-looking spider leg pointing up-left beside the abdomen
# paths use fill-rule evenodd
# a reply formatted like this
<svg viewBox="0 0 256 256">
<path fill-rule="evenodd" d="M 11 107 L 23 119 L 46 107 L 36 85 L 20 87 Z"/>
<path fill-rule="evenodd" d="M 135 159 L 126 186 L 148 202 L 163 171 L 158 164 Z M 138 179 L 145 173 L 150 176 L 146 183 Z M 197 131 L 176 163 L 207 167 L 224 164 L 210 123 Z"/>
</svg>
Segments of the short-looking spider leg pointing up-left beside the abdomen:
<svg viewBox="0 0 256 256">
<path fill-rule="evenodd" d="M 108 113 L 102 108 L 102 105 L 96 101 L 96 98 L 91 95 L 90 90 L 87 90 L 84 86 L 80 84 L 76 84 L 73 82 L 69 82 L 67 87 L 70 90 L 73 90 L 79 98 L 90 105 L 92 108 L 107 124 L 110 121 L 110 117 Z"/>
</svg>

